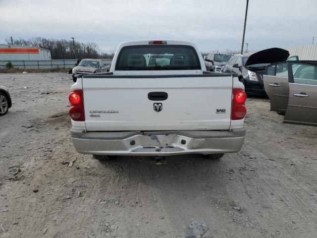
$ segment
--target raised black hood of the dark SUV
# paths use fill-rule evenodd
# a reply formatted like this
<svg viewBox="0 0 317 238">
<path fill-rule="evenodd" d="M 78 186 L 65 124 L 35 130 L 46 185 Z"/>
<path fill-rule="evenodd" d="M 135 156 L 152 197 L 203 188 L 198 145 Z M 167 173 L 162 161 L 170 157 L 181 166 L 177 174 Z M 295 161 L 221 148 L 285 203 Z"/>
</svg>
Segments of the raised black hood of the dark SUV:
<svg viewBox="0 0 317 238">
<path fill-rule="evenodd" d="M 259 51 L 249 56 L 245 67 L 257 63 L 275 63 L 285 61 L 289 57 L 289 52 L 281 48 L 269 48 Z"/>
</svg>

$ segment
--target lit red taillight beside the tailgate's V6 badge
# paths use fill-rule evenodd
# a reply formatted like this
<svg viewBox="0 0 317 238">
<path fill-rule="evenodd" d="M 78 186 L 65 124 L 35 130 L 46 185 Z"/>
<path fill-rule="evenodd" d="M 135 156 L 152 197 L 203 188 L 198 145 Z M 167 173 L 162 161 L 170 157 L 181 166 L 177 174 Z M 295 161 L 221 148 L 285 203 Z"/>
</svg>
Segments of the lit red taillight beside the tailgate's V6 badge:
<svg viewBox="0 0 317 238">
<path fill-rule="evenodd" d="M 245 107 L 245 102 L 247 99 L 247 94 L 241 88 L 232 89 L 232 109 L 231 109 L 231 119 L 241 120 L 247 114 L 247 109 Z"/>
</svg>

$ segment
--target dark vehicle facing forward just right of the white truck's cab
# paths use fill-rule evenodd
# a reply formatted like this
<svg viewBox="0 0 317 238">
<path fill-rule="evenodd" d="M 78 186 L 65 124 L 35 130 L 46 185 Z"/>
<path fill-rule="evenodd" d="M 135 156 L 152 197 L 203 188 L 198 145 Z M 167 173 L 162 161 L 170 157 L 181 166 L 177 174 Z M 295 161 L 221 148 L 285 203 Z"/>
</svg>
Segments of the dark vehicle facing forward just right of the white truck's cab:
<svg viewBox="0 0 317 238">
<path fill-rule="evenodd" d="M 224 65 L 232 56 L 219 53 L 210 53 L 205 57 L 205 65 L 207 71 L 223 72 Z"/>
</svg>

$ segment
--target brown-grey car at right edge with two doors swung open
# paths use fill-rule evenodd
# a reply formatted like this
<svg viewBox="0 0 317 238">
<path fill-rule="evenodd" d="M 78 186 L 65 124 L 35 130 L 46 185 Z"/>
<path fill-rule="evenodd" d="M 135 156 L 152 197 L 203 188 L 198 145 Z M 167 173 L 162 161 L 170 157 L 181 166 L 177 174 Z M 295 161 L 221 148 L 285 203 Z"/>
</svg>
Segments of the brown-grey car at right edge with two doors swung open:
<svg viewBox="0 0 317 238">
<path fill-rule="evenodd" d="M 271 111 L 285 115 L 284 123 L 317 126 L 317 61 L 273 63 L 265 74 Z"/>
</svg>

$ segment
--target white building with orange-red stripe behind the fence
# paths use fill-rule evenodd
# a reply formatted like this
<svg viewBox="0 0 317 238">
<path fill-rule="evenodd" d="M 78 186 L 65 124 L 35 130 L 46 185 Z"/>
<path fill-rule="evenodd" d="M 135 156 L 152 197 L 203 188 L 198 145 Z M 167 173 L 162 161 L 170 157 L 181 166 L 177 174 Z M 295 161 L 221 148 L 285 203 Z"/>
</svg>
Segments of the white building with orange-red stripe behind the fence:
<svg viewBox="0 0 317 238">
<path fill-rule="evenodd" d="M 52 60 L 51 51 L 39 47 L 0 44 L 0 60 Z"/>
</svg>

